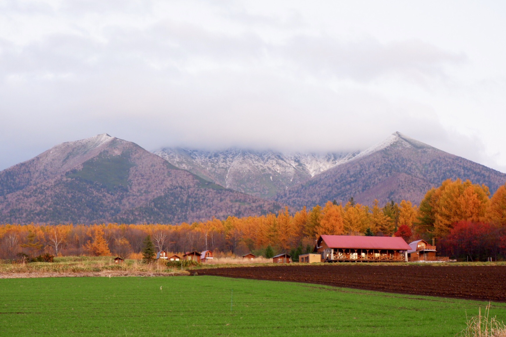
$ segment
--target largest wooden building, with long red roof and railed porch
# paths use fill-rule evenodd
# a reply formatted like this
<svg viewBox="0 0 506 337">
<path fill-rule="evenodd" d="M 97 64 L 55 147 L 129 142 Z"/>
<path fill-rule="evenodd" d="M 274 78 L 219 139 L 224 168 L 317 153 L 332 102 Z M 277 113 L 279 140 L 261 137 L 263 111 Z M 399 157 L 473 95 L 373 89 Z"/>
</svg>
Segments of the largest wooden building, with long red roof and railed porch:
<svg viewBox="0 0 506 337">
<path fill-rule="evenodd" d="M 322 262 L 407 262 L 409 249 L 402 237 L 320 235 L 313 252 Z"/>
</svg>

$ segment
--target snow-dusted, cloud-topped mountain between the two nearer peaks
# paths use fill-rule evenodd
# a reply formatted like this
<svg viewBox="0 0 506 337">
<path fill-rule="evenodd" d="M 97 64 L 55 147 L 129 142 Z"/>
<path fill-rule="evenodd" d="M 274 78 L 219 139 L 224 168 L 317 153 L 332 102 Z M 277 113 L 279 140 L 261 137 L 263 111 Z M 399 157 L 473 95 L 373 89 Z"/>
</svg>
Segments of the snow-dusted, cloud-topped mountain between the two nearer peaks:
<svg viewBox="0 0 506 337">
<path fill-rule="evenodd" d="M 154 153 L 201 178 L 236 191 L 266 198 L 304 183 L 358 154 L 283 154 L 237 148 L 223 151 L 163 148 Z"/>
</svg>

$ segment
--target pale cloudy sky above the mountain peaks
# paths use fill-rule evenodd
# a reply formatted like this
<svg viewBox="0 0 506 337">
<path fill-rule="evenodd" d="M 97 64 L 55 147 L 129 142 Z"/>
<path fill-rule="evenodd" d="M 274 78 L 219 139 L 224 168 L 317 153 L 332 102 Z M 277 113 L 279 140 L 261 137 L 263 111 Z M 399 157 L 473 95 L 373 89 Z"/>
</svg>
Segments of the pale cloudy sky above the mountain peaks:
<svg viewBox="0 0 506 337">
<path fill-rule="evenodd" d="M 506 172 L 506 2 L 0 0 L 0 169 L 101 133 Z"/>
</svg>

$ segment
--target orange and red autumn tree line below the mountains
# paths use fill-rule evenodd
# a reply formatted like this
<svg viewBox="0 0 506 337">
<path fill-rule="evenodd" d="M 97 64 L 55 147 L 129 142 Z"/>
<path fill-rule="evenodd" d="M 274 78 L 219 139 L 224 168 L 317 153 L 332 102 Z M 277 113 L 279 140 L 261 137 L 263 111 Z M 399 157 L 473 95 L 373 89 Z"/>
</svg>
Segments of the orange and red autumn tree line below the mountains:
<svg viewBox="0 0 506 337">
<path fill-rule="evenodd" d="M 311 209 L 257 217 L 228 217 L 192 224 L 0 225 L 0 258 L 43 254 L 142 257 L 150 236 L 171 252 L 211 249 L 224 255 L 271 255 L 312 251 L 318 235 L 400 236 L 408 243 L 435 239 L 438 250 L 472 260 L 506 254 L 506 185 L 490 197 L 488 187 L 447 180 L 429 190 L 419 206 L 391 201 L 372 207 L 351 198 Z"/>
</svg>

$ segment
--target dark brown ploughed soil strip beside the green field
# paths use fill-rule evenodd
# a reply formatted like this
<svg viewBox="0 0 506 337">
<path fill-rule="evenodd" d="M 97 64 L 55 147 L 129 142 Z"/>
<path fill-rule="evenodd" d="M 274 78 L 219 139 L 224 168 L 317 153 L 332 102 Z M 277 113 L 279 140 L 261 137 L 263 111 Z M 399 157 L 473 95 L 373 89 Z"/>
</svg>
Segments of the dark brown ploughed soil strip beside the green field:
<svg viewBox="0 0 506 337">
<path fill-rule="evenodd" d="M 215 275 L 293 281 L 416 295 L 506 301 L 506 266 L 276 266 L 198 270 Z"/>
</svg>

